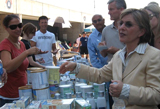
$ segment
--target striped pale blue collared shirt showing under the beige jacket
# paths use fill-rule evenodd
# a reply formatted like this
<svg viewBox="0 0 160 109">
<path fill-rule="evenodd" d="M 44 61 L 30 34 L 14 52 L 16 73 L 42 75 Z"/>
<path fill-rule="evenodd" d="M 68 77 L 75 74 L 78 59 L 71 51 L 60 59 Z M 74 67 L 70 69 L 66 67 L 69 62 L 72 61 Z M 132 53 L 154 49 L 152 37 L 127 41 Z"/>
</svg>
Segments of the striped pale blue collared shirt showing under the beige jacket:
<svg viewBox="0 0 160 109">
<path fill-rule="evenodd" d="M 142 43 L 142 44 L 139 44 L 135 49 L 134 51 L 130 52 L 128 54 L 128 56 L 125 58 L 125 54 L 126 54 L 126 46 L 119 52 L 119 56 L 122 60 L 122 63 L 123 63 L 123 71 L 125 70 L 125 68 L 127 67 L 128 63 L 129 63 L 129 60 L 132 56 L 132 54 L 134 52 L 138 53 L 138 54 L 144 54 L 145 51 L 146 51 L 146 48 L 147 48 L 147 43 Z M 123 84 L 123 88 L 122 88 L 122 91 L 121 91 L 121 95 L 119 98 L 122 98 L 122 99 L 126 99 L 129 97 L 129 92 L 130 92 L 130 86 L 129 84 Z"/>
</svg>

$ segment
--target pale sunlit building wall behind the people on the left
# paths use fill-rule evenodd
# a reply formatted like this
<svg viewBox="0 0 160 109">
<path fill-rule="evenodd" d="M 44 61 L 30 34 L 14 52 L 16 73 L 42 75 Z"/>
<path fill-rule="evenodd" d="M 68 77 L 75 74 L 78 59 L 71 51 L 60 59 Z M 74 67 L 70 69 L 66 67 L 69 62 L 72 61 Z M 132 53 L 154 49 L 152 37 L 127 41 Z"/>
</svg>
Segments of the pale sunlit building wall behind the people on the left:
<svg viewBox="0 0 160 109">
<path fill-rule="evenodd" d="M 7 7 L 7 1 L 11 1 L 11 7 Z M 70 21 L 71 28 L 48 27 L 53 32 L 56 39 L 62 40 L 67 35 L 67 40 L 74 42 L 79 33 L 82 33 L 85 24 L 91 24 L 92 14 L 78 12 L 70 9 L 56 7 L 33 0 L 0 0 L 0 41 L 8 36 L 3 28 L 3 18 L 8 14 L 17 14 L 23 19 L 23 23 L 32 22 L 38 28 L 37 20 L 39 16 L 46 15 L 49 18 L 61 16 Z M 84 23 L 85 22 L 85 23 Z"/>
</svg>

